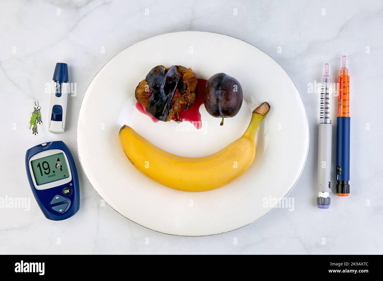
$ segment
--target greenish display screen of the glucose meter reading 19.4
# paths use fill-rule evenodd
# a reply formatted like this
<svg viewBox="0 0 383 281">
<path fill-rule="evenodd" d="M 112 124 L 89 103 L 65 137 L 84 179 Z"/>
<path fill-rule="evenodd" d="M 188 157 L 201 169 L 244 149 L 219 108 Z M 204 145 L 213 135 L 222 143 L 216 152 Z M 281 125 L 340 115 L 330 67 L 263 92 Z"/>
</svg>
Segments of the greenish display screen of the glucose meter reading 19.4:
<svg viewBox="0 0 383 281">
<path fill-rule="evenodd" d="M 37 185 L 69 177 L 68 166 L 62 152 L 32 160 L 31 165 Z"/>
</svg>

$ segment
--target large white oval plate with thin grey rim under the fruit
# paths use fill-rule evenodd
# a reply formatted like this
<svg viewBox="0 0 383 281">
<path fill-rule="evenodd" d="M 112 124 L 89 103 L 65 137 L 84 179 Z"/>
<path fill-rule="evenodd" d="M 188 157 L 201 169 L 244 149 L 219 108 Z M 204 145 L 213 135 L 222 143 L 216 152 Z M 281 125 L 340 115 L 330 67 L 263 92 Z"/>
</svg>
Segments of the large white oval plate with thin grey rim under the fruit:
<svg viewBox="0 0 383 281">
<path fill-rule="evenodd" d="M 218 72 L 235 77 L 244 93 L 241 110 L 221 127 L 202 105 L 201 130 L 187 122 L 152 122 L 136 109 L 134 90 L 156 65 L 191 67 L 204 79 Z M 119 143 L 126 124 L 170 153 L 215 153 L 242 135 L 251 111 L 264 101 L 271 109 L 257 133 L 254 163 L 216 190 L 190 193 L 158 184 L 131 164 Z M 299 179 L 308 145 L 306 111 L 286 71 L 256 47 L 211 32 L 162 34 L 126 48 L 93 78 L 77 120 L 81 166 L 96 192 L 131 221 L 181 236 L 228 232 L 267 214 L 270 200 L 284 198 Z"/>
</svg>

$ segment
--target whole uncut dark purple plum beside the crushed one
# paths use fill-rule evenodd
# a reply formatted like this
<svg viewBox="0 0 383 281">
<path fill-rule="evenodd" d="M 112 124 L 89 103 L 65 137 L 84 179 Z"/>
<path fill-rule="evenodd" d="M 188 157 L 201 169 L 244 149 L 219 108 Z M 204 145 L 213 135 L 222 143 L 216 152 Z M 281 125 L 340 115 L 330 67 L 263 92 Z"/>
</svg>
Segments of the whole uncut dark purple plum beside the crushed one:
<svg viewBox="0 0 383 281">
<path fill-rule="evenodd" d="M 236 85 L 236 90 L 235 89 Z M 242 106 L 241 84 L 225 73 L 211 76 L 205 86 L 204 104 L 206 111 L 214 117 L 234 117 Z"/>
</svg>

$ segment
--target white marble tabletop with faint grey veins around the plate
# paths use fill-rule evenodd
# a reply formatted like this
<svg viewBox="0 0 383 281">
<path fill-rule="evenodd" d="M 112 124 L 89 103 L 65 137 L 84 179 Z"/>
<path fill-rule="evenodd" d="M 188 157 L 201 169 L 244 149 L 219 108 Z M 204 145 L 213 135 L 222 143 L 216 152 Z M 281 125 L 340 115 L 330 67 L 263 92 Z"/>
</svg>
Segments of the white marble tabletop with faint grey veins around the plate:
<svg viewBox="0 0 383 281">
<path fill-rule="evenodd" d="M 218 236 L 177 237 L 141 227 L 101 205 L 82 174 L 75 148 L 83 93 L 120 50 L 180 30 L 213 31 L 247 41 L 293 79 L 310 123 L 306 166 L 289 195 L 294 211 L 278 208 Z M 0 198 L 30 198 L 30 210 L 0 208 L 0 253 L 382 254 L 382 30 L 380 0 L 1 1 Z M 332 196 L 331 208 L 318 210 L 313 187 L 318 96 L 308 93 L 308 83 L 320 81 L 325 62 L 336 78 L 343 54 L 352 79 L 352 194 Z M 67 62 L 70 79 L 77 83 L 77 96 L 68 101 L 66 131 L 59 136 L 47 132 L 49 98 L 44 93 L 56 62 Z M 34 100 L 41 104 L 44 122 L 36 137 L 26 129 Z M 61 222 L 44 218 L 25 176 L 26 149 L 51 140 L 67 143 L 80 174 L 80 211 Z"/>
</svg>

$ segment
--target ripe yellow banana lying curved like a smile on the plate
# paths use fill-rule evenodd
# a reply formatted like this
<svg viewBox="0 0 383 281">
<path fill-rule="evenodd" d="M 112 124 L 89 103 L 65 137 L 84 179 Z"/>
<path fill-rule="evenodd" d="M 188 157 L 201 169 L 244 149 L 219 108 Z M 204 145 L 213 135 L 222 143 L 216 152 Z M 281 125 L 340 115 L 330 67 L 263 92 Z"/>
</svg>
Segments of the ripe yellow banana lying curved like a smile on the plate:
<svg viewBox="0 0 383 281">
<path fill-rule="evenodd" d="M 249 127 L 241 138 L 221 151 L 204 157 L 189 158 L 171 154 L 126 125 L 118 136 L 126 156 L 148 177 L 178 190 L 207 191 L 237 179 L 250 167 L 255 156 L 255 133 L 269 110 L 269 104 L 262 103 L 253 111 Z"/>
</svg>

